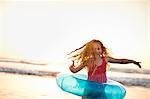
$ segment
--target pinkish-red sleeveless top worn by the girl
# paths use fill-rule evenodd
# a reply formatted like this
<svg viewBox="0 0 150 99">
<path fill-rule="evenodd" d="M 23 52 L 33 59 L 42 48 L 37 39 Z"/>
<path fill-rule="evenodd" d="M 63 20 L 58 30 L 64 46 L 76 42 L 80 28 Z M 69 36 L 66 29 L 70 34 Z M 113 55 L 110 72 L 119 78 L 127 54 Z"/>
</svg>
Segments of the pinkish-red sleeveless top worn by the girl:
<svg viewBox="0 0 150 99">
<path fill-rule="evenodd" d="M 106 59 L 103 57 L 101 65 L 94 65 L 93 67 L 91 67 L 91 69 L 88 72 L 88 80 L 99 83 L 105 83 L 107 81 L 106 64 Z"/>
</svg>

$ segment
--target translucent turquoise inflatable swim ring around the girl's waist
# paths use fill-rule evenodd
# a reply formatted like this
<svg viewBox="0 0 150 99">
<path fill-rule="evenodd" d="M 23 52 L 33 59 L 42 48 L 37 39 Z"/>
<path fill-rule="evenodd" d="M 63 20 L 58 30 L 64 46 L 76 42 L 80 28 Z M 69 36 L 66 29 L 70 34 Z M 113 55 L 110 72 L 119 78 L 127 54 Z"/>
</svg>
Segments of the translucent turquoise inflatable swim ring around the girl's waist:
<svg viewBox="0 0 150 99">
<path fill-rule="evenodd" d="M 97 83 L 87 80 L 83 74 L 61 74 L 57 76 L 56 82 L 63 91 L 85 96 L 86 99 L 123 99 L 126 94 L 119 82 L 108 79 L 107 83 Z"/>
</svg>

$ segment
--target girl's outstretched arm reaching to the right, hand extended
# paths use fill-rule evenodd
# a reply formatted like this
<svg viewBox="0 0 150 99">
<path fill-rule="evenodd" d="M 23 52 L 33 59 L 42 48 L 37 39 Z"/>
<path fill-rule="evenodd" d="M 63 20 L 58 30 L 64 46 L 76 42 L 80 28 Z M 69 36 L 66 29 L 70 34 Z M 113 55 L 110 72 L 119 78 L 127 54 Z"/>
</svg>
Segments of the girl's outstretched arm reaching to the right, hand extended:
<svg viewBox="0 0 150 99">
<path fill-rule="evenodd" d="M 130 59 L 116 59 L 112 57 L 107 57 L 107 61 L 110 63 L 119 63 L 119 64 L 128 64 L 128 63 L 133 63 L 137 65 L 139 68 L 141 68 L 140 62 L 136 62 L 135 60 L 130 60 Z"/>
</svg>

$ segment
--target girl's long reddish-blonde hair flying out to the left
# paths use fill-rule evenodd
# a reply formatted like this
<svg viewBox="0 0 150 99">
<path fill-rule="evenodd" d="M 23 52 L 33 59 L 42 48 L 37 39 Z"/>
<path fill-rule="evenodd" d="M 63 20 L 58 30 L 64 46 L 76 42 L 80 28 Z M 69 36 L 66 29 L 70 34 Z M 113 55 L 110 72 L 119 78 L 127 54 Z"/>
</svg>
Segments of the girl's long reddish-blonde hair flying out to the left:
<svg viewBox="0 0 150 99">
<path fill-rule="evenodd" d="M 93 59 L 95 59 L 95 50 L 93 49 L 93 44 L 98 43 L 101 45 L 102 48 L 102 54 L 101 57 L 108 56 L 108 51 L 106 47 L 103 45 L 103 43 L 99 40 L 91 40 L 81 46 L 80 48 L 77 48 L 76 50 L 72 51 L 68 55 L 70 55 L 69 58 L 71 58 L 73 61 L 76 61 L 79 65 L 85 65 L 87 69 L 90 68 L 90 66 L 93 64 Z"/>
</svg>

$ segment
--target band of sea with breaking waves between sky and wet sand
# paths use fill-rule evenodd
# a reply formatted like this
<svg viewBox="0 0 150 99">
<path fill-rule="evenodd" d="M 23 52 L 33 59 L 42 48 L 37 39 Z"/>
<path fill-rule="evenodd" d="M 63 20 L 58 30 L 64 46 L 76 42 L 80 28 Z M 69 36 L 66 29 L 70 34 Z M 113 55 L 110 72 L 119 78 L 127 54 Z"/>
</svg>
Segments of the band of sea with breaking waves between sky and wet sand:
<svg viewBox="0 0 150 99">
<path fill-rule="evenodd" d="M 50 76 L 55 78 L 59 73 L 65 72 L 65 69 L 63 70 L 59 66 L 54 66 L 57 69 L 51 67 L 53 66 L 0 62 L 0 72 L 5 73 L 43 77 Z M 107 71 L 107 77 L 127 86 L 150 88 L 150 70 L 112 67 Z"/>
</svg>

